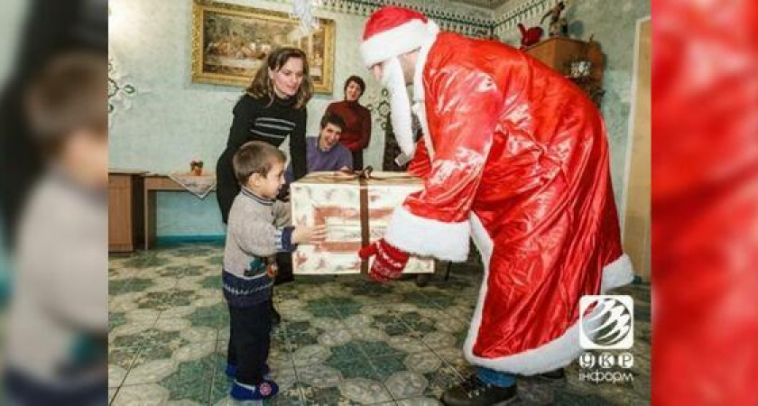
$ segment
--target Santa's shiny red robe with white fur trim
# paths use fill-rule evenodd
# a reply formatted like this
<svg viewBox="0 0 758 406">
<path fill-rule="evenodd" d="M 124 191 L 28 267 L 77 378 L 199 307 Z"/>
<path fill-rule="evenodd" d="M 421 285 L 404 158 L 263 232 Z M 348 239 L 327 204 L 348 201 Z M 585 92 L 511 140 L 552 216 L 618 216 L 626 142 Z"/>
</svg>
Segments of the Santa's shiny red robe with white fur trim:
<svg viewBox="0 0 758 406">
<path fill-rule="evenodd" d="M 485 264 L 467 360 L 539 374 L 580 353 L 579 298 L 633 279 L 621 247 L 603 121 L 582 91 L 522 51 L 442 32 L 421 48 L 410 171 L 425 186 L 386 240 Z"/>
</svg>

